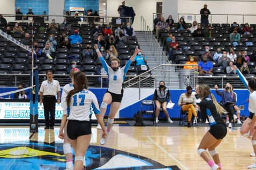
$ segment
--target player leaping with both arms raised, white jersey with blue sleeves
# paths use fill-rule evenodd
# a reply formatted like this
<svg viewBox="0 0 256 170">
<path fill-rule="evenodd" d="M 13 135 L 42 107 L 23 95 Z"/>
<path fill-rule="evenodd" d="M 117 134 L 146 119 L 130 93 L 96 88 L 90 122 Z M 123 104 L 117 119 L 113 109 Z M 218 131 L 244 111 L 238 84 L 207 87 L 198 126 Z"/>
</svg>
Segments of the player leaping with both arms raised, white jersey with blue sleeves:
<svg viewBox="0 0 256 170">
<path fill-rule="evenodd" d="M 123 81 L 126 76 L 126 73 L 130 67 L 130 64 L 134 61 L 135 56 L 139 52 L 139 49 L 136 48 L 134 54 L 130 57 L 130 60 L 126 63 L 126 65 L 123 66 L 123 68 L 119 68 L 120 66 L 120 60 L 118 58 L 112 58 L 111 60 L 111 67 L 106 63 L 104 58 L 102 57 L 98 46 L 94 45 L 94 48 L 98 54 L 98 57 L 100 59 L 100 62 L 103 65 L 103 68 L 106 70 L 108 78 L 109 78 L 109 84 L 108 84 L 108 90 L 105 93 L 103 97 L 103 101 L 100 106 L 100 115 L 103 119 L 107 106 L 110 105 L 110 112 L 108 115 L 108 122 L 107 122 L 107 133 L 109 134 L 110 129 L 112 128 L 112 125 L 114 123 L 116 112 L 119 110 L 121 106 L 121 101 L 123 98 Z M 99 125 L 97 127 L 99 129 Z M 100 141 L 100 144 L 105 144 L 107 138 L 102 138 Z"/>
</svg>

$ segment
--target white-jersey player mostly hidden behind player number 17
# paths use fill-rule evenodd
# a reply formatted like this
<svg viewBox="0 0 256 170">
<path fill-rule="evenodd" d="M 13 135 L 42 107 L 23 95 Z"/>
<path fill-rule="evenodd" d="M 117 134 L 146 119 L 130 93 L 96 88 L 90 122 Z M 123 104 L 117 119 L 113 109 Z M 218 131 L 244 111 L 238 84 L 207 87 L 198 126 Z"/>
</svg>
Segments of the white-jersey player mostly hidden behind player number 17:
<svg viewBox="0 0 256 170">
<path fill-rule="evenodd" d="M 74 73 L 79 72 L 79 69 L 72 69 L 70 71 L 70 78 L 72 80 Z M 71 90 L 74 89 L 73 83 L 70 84 L 66 84 L 63 87 L 63 91 L 61 94 L 61 107 L 62 108 L 67 108 L 67 102 L 66 102 L 66 97 L 68 92 L 70 92 Z M 67 109 L 63 109 L 63 113 L 66 115 L 67 114 Z M 67 123 L 64 127 L 64 144 L 63 144 L 63 151 L 64 154 L 66 156 L 66 170 L 72 170 L 73 169 L 73 154 L 72 154 L 72 149 L 71 149 L 71 145 L 70 142 L 68 141 L 68 137 L 67 137 Z M 86 165 L 84 165 L 86 166 Z"/>
</svg>

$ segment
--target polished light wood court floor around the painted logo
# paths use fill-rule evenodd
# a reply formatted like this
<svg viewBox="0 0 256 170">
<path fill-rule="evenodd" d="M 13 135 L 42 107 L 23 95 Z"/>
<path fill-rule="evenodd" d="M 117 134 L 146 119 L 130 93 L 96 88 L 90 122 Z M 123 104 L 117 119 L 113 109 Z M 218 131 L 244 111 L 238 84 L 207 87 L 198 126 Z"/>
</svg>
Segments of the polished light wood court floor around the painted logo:
<svg viewBox="0 0 256 170">
<path fill-rule="evenodd" d="M 23 130 L 21 132 L 20 130 Z M 105 147 L 137 154 L 165 166 L 180 169 L 210 169 L 197 154 L 197 147 L 209 127 L 130 127 L 114 125 Z M 0 127 L 0 150 L 5 143 L 38 141 L 45 144 L 61 143 L 58 127 L 54 130 L 39 128 L 30 134 L 27 127 Z M 6 132 L 11 132 L 11 134 Z M 239 128 L 228 129 L 227 136 L 217 148 L 223 169 L 247 169 L 255 161 L 250 157 L 251 141 L 240 135 Z M 92 145 L 100 146 L 101 131 L 93 127 Z M 20 136 L 20 134 L 22 134 Z M 31 139 L 29 140 L 29 137 Z M 0 156 L 1 160 L 1 156 Z"/>
</svg>

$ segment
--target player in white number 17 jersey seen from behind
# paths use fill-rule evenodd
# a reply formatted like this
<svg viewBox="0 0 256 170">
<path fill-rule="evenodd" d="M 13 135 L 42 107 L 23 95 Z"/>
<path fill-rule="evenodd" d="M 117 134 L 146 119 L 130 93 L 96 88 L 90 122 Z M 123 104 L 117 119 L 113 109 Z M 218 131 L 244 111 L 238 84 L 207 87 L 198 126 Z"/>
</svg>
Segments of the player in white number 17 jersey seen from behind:
<svg viewBox="0 0 256 170">
<path fill-rule="evenodd" d="M 91 91 L 87 90 L 85 73 L 74 73 L 73 85 L 74 89 L 68 92 L 66 105 L 63 105 L 65 112 L 61 120 L 59 138 L 68 137 L 68 141 L 75 152 L 74 170 L 81 170 L 84 169 L 84 156 L 92 136 L 92 126 L 89 118 L 91 107 L 101 125 L 102 138 L 107 137 L 107 131 L 100 116 L 98 100 Z M 67 120 L 67 136 L 65 136 L 64 127 Z"/>
</svg>

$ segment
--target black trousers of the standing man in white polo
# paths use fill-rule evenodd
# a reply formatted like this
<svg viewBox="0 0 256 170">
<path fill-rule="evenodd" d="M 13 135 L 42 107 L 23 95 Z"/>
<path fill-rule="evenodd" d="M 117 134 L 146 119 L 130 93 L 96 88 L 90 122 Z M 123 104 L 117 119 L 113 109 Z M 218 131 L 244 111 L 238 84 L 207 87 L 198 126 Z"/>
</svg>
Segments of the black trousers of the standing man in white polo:
<svg viewBox="0 0 256 170">
<path fill-rule="evenodd" d="M 45 126 L 46 127 L 49 127 L 49 126 L 54 127 L 56 97 L 55 96 L 51 96 L 51 97 L 44 96 L 43 104 L 44 104 Z M 50 121 L 49 112 L 51 114 L 51 121 Z"/>
</svg>

